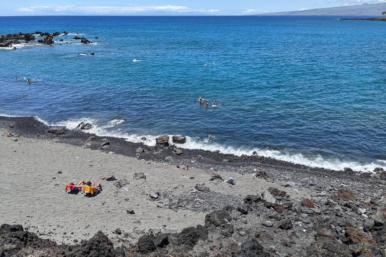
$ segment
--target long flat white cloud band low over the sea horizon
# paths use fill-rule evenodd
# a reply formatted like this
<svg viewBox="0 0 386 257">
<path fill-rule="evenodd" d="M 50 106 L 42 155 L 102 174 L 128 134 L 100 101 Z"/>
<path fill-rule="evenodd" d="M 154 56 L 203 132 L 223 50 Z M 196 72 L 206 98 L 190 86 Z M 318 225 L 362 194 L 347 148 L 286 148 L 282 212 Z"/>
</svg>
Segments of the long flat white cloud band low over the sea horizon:
<svg viewBox="0 0 386 257">
<path fill-rule="evenodd" d="M 146 13 L 202 13 L 215 14 L 216 9 L 191 9 L 185 6 L 31 6 L 17 9 L 21 13 L 83 13 L 83 14 L 146 14 Z"/>
</svg>

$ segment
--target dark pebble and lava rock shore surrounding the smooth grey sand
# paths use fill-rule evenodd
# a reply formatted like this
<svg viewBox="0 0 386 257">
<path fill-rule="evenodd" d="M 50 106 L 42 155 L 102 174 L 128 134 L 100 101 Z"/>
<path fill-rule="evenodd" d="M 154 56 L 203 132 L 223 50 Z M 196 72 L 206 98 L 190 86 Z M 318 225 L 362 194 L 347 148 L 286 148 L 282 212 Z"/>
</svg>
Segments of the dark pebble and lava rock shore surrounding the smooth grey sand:
<svg viewBox="0 0 386 257">
<path fill-rule="evenodd" d="M 168 208 L 176 212 L 205 213 L 204 225 L 178 233 L 147 231 L 136 243 L 125 239 L 118 228 L 112 235 L 118 237 L 114 243 L 111 236 L 98 232 L 80 244 L 58 245 L 21 226 L 4 224 L 0 256 L 386 256 L 386 174 L 381 169 L 371 174 L 332 171 L 259 156 L 177 151 L 166 144 L 148 147 L 86 130 L 48 127 L 33 117 L 0 116 L 0 128 L 12 133 L 16 141 L 20 134 L 21 138 L 114 152 L 181 170 L 209 171 L 208 183 L 196 184 L 193 191 L 178 196 L 162 191 L 150 194 L 152 201 L 168 202 Z M 227 180 L 220 171 L 237 172 L 271 186 L 247 195 L 224 195 L 213 189 Z M 123 182 L 117 185 L 124 187 Z M 243 187 L 236 180 L 228 183 L 231 188 Z M 307 189 L 310 197 L 289 193 L 301 189 Z"/>
</svg>

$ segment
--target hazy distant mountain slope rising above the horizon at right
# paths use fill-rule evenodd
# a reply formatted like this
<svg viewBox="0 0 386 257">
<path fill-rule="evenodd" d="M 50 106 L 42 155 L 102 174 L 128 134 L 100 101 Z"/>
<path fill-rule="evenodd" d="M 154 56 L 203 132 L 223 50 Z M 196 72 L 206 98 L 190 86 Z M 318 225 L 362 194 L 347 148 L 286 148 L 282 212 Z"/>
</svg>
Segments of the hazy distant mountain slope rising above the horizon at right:
<svg viewBox="0 0 386 257">
<path fill-rule="evenodd" d="M 321 8 L 311 9 L 304 11 L 293 11 L 293 12 L 281 12 L 281 13 L 270 13 L 270 14 L 259 14 L 261 15 L 331 15 L 331 16 L 380 16 L 382 12 L 386 11 L 385 4 L 362 4 L 359 6 L 344 6 L 344 7 L 333 7 L 333 8 Z"/>
</svg>

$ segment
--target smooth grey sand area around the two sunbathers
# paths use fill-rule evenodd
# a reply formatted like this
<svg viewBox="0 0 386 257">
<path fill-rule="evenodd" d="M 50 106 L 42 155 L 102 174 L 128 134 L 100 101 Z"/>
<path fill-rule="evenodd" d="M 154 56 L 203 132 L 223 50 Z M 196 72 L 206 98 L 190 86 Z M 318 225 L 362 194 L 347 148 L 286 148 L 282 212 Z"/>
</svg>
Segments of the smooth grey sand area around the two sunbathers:
<svg viewBox="0 0 386 257">
<path fill-rule="evenodd" d="M 237 184 L 231 186 L 225 182 L 210 182 L 206 170 L 185 171 L 166 163 L 39 139 L 21 137 L 13 141 L 6 137 L 4 130 L 0 131 L 0 145 L 0 183 L 6 185 L 0 188 L 3 205 L 0 223 L 22 224 L 42 238 L 59 243 L 88 239 L 98 230 L 109 234 L 114 241 L 117 238 L 111 234 L 116 228 L 130 233 L 135 242 L 149 229 L 181 231 L 188 226 L 204 224 L 207 213 L 188 208 L 175 212 L 168 208 L 169 199 L 162 197 L 192 194 L 189 190 L 194 193 L 197 183 L 205 183 L 215 193 L 240 198 L 260 194 L 271 186 L 282 189 L 277 184 L 252 179 L 250 174 L 217 172 L 223 178 L 234 176 Z M 144 172 L 147 179 L 134 180 L 133 175 L 138 172 Z M 107 175 L 127 179 L 130 185 L 117 190 L 114 182 L 101 179 Z M 93 198 L 64 192 L 65 184 L 79 180 L 101 182 L 104 190 Z M 149 193 L 157 189 L 161 192 L 160 199 L 151 200 Z M 293 198 L 310 197 L 307 188 L 285 188 L 285 191 Z M 130 200 L 126 201 L 127 198 Z M 135 214 L 127 214 L 127 209 L 133 209 Z M 135 220 L 141 223 L 133 223 Z M 164 224 L 166 227 L 162 226 Z"/>
</svg>

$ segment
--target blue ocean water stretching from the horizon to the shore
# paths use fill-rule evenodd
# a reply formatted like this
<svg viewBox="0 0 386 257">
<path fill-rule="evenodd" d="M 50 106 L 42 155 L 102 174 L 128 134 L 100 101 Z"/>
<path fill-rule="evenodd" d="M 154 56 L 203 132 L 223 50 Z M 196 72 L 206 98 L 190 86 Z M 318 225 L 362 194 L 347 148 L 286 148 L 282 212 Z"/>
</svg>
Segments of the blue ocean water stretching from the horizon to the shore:
<svg viewBox="0 0 386 257">
<path fill-rule="evenodd" d="M 188 148 L 333 169 L 386 166 L 386 23 L 0 17 L 1 34 L 36 30 L 94 43 L 72 34 L 52 46 L 0 49 L 0 113 L 69 127 L 88 120 L 92 132 L 136 142 L 146 135 L 147 144 L 181 134 Z M 199 96 L 225 104 L 205 108 Z"/>
</svg>

